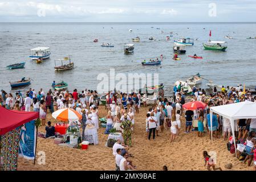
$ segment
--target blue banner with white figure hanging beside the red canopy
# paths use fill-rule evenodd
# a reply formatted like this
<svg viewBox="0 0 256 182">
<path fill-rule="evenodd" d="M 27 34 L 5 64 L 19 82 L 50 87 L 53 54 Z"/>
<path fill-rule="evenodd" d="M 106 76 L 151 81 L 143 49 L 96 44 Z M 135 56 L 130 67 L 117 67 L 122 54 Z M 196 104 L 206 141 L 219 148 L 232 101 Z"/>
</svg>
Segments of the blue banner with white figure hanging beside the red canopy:
<svg viewBox="0 0 256 182">
<path fill-rule="evenodd" d="M 35 120 L 22 125 L 19 136 L 19 156 L 25 159 L 35 159 Z"/>
</svg>

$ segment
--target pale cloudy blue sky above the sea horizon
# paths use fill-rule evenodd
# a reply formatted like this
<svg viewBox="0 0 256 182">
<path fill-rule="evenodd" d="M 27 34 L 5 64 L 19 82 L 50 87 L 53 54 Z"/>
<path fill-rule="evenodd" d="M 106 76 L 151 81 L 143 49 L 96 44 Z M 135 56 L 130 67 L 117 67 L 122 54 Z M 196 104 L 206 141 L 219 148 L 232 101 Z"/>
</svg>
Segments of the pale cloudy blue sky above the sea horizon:
<svg viewBox="0 0 256 182">
<path fill-rule="evenodd" d="M 256 0 L 0 0 L 0 22 L 255 22 Z"/>
</svg>

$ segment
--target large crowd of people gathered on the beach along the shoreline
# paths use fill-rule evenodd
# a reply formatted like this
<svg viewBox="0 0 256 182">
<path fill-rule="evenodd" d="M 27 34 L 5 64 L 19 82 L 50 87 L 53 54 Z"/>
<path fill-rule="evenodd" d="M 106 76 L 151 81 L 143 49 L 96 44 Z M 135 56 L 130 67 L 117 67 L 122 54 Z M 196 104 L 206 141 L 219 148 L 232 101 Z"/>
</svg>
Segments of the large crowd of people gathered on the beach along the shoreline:
<svg viewBox="0 0 256 182">
<path fill-rule="evenodd" d="M 224 140 L 231 137 L 231 125 L 229 119 L 221 115 L 213 113 L 212 127 L 210 126 L 210 107 L 233 104 L 235 102 L 252 101 L 256 102 L 256 97 L 250 93 L 250 90 L 244 91 L 241 85 L 237 88 L 226 89 L 223 87 L 220 92 L 216 88 L 213 93 L 206 95 L 204 89 L 192 88 L 192 96 L 187 96 L 184 92 L 184 86 L 178 85 L 173 88 L 173 97 L 164 97 L 163 90 L 159 93 L 154 93 L 152 104 L 149 105 L 148 95 L 146 93 L 121 93 L 113 92 L 107 93 L 106 96 L 106 114 L 107 126 L 104 134 L 111 133 L 112 129 L 120 132 L 123 135 L 124 144 L 118 140 L 113 146 L 113 155 L 116 159 L 116 169 L 127 170 L 135 169 L 132 164 L 129 154 L 129 148 L 132 147 L 132 133 L 135 125 L 135 115 L 140 113 L 141 107 L 147 107 L 147 114 L 145 115 L 145 131 L 147 139 L 153 140 L 160 137 L 160 133 L 164 130 L 170 131 L 170 142 L 174 142 L 181 132 L 185 134 L 191 131 L 197 131 L 198 137 L 204 137 L 213 131 L 214 138 L 221 138 Z M 190 101 L 204 102 L 207 107 L 203 110 L 185 110 L 182 105 Z M 31 106 L 33 111 L 39 112 L 39 117 L 42 125 L 45 126 L 47 112 L 53 113 L 54 110 L 72 108 L 82 115 L 82 120 L 77 122 L 77 125 L 82 127 L 82 139 L 88 140 L 92 144 L 98 144 L 97 130 L 99 129 L 99 97 L 96 90 L 83 90 L 78 92 L 74 89 L 72 93 L 65 91 L 57 91 L 56 89 L 48 90 L 46 94 L 43 89 L 38 93 L 34 89 L 29 89 L 25 95 L 21 92 L 7 94 L 1 90 L 0 105 L 6 109 L 30 111 Z M 185 120 L 185 123 L 182 121 Z M 194 122 L 197 126 L 193 126 Z M 238 119 L 235 121 L 235 140 L 238 143 L 246 141 L 246 159 L 248 166 L 255 160 L 256 147 L 256 119 Z M 185 126 L 185 130 L 181 131 L 181 126 Z M 48 127 L 51 127 L 48 123 Z M 52 130 L 51 130 L 52 131 Z M 206 154 L 204 154 L 207 156 Z M 255 166 L 256 163 L 254 162 Z M 256 167 L 255 167 L 256 169 Z"/>
</svg>

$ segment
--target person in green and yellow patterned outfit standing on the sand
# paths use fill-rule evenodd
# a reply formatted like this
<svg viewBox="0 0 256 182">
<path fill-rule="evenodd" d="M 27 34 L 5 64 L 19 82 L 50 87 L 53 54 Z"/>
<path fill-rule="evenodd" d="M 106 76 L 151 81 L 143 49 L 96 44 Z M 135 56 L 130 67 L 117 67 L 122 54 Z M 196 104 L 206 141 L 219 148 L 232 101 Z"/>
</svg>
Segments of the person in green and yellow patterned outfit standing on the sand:
<svg viewBox="0 0 256 182">
<path fill-rule="evenodd" d="M 127 119 L 127 114 L 124 114 L 124 120 L 121 122 L 121 129 L 123 129 L 124 143 L 132 146 L 132 122 Z"/>
</svg>

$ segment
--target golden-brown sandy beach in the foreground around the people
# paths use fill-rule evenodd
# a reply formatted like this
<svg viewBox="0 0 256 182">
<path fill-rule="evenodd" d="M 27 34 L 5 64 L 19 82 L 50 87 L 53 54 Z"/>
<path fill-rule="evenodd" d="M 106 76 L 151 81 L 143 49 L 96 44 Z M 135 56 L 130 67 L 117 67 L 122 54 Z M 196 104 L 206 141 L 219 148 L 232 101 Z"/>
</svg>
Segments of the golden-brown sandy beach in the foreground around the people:
<svg viewBox="0 0 256 182">
<path fill-rule="evenodd" d="M 135 128 L 132 133 L 130 152 L 135 156 L 132 158 L 138 170 L 162 170 L 162 166 L 168 166 L 168 170 L 207 170 L 204 167 L 202 152 L 216 151 L 217 166 L 223 170 L 253 170 L 253 166 L 239 162 L 233 154 L 227 151 L 223 138 L 214 139 L 209 137 L 198 138 L 196 131 L 189 134 L 184 133 L 185 121 L 182 118 L 181 133 L 178 138 L 170 143 L 170 131 L 160 133 L 156 140 L 148 140 L 145 133 L 145 114 L 148 107 L 142 107 L 139 114 L 135 114 Z M 104 106 L 99 107 L 100 117 L 104 117 L 106 110 Z M 51 114 L 47 114 L 47 120 L 56 123 Z M 104 134 L 105 128 L 100 127 L 98 131 L 99 145 L 89 146 L 88 150 L 61 147 L 54 144 L 54 139 L 38 138 L 37 154 L 44 151 L 46 164 L 34 166 L 33 160 L 19 158 L 18 170 L 115 170 L 115 158 L 112 148 L 105 147 L 108 135 Z M 39 128 L 45 132 L 44 127 Z M 205 136 L 205 135 L 204 135 Z M 37 160 L 38 158 L 36 158 Z M 233 167 L 226 169 L 225 164 L 231 163 Z"/>
</svg>

